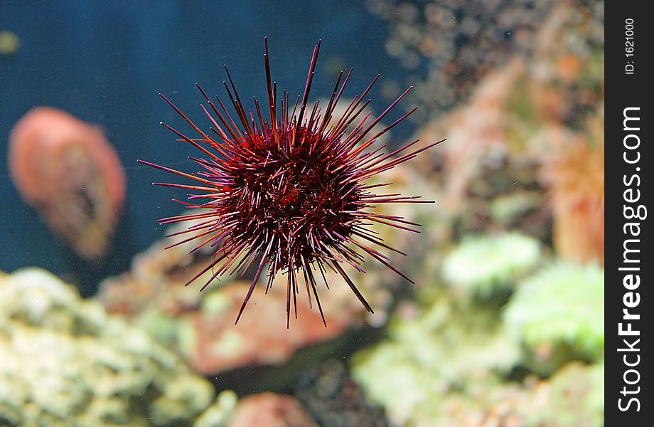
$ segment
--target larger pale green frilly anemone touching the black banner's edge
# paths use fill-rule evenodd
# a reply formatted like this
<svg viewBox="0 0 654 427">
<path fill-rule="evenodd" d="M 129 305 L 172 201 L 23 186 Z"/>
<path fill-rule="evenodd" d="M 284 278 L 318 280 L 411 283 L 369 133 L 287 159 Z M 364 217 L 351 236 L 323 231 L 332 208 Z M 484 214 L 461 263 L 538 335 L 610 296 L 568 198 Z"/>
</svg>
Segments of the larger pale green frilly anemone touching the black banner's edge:
<svg viewBox="0 0 654 427">
<path fill-rule="evenodd" d="M 604 357 L 604 270 L 556 263 L 525 280 L 504 312 L 540 372 L 569 359 Z M 537 359 L 540 359 L 537 360 Z"/>
</svg>

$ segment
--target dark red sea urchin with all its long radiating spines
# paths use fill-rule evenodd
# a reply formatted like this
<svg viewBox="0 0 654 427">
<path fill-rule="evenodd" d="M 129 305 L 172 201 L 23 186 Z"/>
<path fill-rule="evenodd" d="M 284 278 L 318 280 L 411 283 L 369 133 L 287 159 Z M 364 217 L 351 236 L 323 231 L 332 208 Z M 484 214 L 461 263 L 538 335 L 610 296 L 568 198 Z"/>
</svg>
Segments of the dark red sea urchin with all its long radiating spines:
<svg viewBox="0 0 654 427">
<path fill-rule="evenodd" d="M 256 115 L 252 111 L 245 111 L 227 67 L 225 71 L 229 85 L 225 81 L 223 85 L 241 127 L 236 125 L 220 98 L 216 97 L 218 101 L 216 105 L 199 85 L 196 86 L 205 97 L 210 109 L 202 105 L 205 114 L 213 123 L 213 127 L 210 128 L 215 134 L 213 136 L 201 130 L 168 98 L 161 95 L 200 135 L 199 138 L 187 137 L 182 132 L 162 123 L 181 140 L 192 144 L 207 156 L 205 159 L 191 157 L 203 168 L 200 172 L 187 174 L 139 160 L 141 163 L 194 179 L 199 183 L 198 185 L 154 183 L 200 191 L 200 194 L 188 195 L 188 202 L 178 201 L 189 209 L 202 209 L 199 213 L 159 220 L 162 224 L 199 221 L 187 230 L 175 233 L 176 235 L 190 234 L 188 238 L 172 246 L 198 239 L 199 243 L 191 252 L 205 245 L 216 248 L 213 261 L 186 285 L 214 269 L 209 280 L 200 289 L 203 290 L 228 270 L 231 270 L 230 274 L 235 272 L 245 274 L 250 265 L 257 265 L 252 285 L 245 296 L 236 322 L 240 319 L 247 301 L 250 300 L 266 264 L 269 265 L 266 292 L 279 271 L 288 275 L 286 327 L 289 326 L 291 295 L 297 317 L 298 275 L 304 278 L 309 307 L 312 305 L 311 293 L 313 293 L 325 325 L 325 317 L 316 290 L 316 272 L 320 272 L 327 285 L 326 266 L 343 276 L 345 282 L 370 312 L 372 307 L 343 270 L 343 263 L 363 271 L 360 267 L 360 263 L 364 260 L 362 253 L 368 253 L 372 258 L 412 282 L 404 273 L 390 265 L 390 259 L 386 255 L 368 246 L 372 243 L 400 252 L 385 245 L 382 239 L 375 236 L 375 233 L 366 226 L 371 225 L 367 221 L 372 221 L 418 232 L 411 226 L 419 226 L 419 224 L 405 221 L 399 216 L 375 214 L 365 209 L 379 203 L 424 202 L 415 200 L 419 199 L 418 196 L 372 193 L 371 189 L 389 184 L 366 184 L 366 180 L 412 159 L 419 152 L 434 147 L 441 141 L 400 157 L 394 156 L 414 146 L 418 140 L 390 153 L 382 151 L 384 146 L 368 149 L 377 138 L 416 110 L 414 108 L 390 126 L 368 137 L 372 128 L 411 89 L 407 89 L 382 115 L 368 123 L 371 113 L 363 114 L 363 111 L 370 100 L 362 101 L 379 75 L 361 95 L 354 97 L 342 117 L 332 117 L 332 113 L 352 69 L 344 79 L 343 71 L 338 75 L 324 112 L 321 112 L 318 102 L 308 109 L 307 100 L 320 44 L 321 42 L 318 41 L 313 48 L 304 95 L 297 97 L 293 109 L 290 110 L 289 93 L 284 90 L 279 106 L 281 114 L 279 114 L 277 83 L 270 77 L 268 43 L 265 41 L 264 62 L 269 102 L 267 119 L 262 116 L 256 98 L 254 98 Z M 213 111 L 215 116 L 210 111 Z M 348 132 L 347 129 L 351 125 L 355 127 Z"/>
</svg>

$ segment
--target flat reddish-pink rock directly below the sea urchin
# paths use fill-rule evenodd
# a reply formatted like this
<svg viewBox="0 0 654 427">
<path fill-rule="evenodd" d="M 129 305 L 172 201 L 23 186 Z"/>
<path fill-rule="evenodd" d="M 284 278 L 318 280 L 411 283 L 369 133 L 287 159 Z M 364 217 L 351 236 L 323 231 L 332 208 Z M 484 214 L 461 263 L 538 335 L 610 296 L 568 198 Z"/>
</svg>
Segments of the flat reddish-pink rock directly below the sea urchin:
<svg viewBox="0 0 654 427">
<path fill-rule="evenodd" d="M 255 292 L 245 315 L 234 321 L 249 282 L 235 282 L 208 292 L 201 309 L 178 318 L 179 349 L 195 371 L 215 374 L 252 365 L 282 364 L 296 349 L 337 337 L 352 321 L 343 312 L 325 313 L 298 304 L 298 320 L 286 329 L 286 288 L 273 285 L 267 295 Z M 348 295 L 349 296 L 349 295 Z M 174 321 L 174 320 L 173 320 Z"/>
</svg>

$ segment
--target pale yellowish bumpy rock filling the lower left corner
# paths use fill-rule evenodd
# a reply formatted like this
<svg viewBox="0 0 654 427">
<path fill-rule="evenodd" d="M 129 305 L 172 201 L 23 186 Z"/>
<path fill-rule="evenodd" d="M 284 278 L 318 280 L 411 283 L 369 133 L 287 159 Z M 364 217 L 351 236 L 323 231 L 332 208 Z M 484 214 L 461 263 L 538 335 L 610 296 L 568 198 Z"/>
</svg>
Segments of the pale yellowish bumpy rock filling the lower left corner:
<svg viewBox="0 0 654 427">
<path fill-rule="evenodd" d="M 0 273 L 0 424 L 191 426 L 213 386 L 36 268 Z"/>
</svg>

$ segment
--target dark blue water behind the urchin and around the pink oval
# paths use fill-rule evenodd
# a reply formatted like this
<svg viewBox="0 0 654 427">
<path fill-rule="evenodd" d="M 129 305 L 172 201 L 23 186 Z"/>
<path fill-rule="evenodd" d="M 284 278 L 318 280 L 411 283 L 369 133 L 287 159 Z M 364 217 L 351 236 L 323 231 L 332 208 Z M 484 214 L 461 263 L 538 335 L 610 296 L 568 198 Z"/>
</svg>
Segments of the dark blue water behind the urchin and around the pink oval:
<svg viewBox="0 0 654 427">
<path fill-rule="evenodd" d="M 204 123 L 194 83 L 220 93 L 227 63 L 244 101 L 251 95 L 266 99 L 264 36 L 273 78 L 291 98 L 304 89 L 318 38 L 323 46 L 314 99 L 331 93 L 339 65 L 355 68 L 349 96 L 363 91 L 377 73 L 382 81 L 402 74 L 385 54 L 387 23 L 350 0 L 0 0 L 3 29 L 16 33 L 21 50 L 13 58 L 0 57 L 0 270 L 39 265 L 73 278 L 86 294 L 99 278 L 129 268 L 135 253 L 163 235 L 156 218 L 181 210 L 170 199 L 183 194 L 150 185 L 169 177 L 136 163 L 147 159 L 193 170 L 185 160 L 196 153 L 159 125 L 164 120 L 185 129 L 159 92 Z M 379 86 L 371 93 L 377 112 L 385 108 Z M 100 264 L 85 263 L 53 238 L 9 180 L 9 130 L 36 105 L 60 107 L 100 125 L 127 169 L 127 208 L 114 248 Z"/>
</svg>

